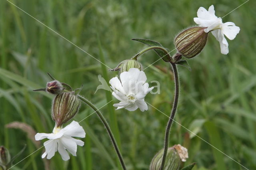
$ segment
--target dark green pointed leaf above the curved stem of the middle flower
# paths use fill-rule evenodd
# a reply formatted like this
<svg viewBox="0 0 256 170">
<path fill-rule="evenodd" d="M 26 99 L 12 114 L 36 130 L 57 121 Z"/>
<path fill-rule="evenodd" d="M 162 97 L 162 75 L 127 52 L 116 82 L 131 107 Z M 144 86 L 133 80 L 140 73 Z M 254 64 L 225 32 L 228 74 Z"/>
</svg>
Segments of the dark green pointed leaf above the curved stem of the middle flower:
<svg viewBox="0 0 256 170">
<path fill-rule="evenodd" d="M 134 38 L 132 39 L 134 41 L 137 41 L 137 42 L 141 42 L 141 43 L 144 43 L 148 46 L 160 46 L 160 47 L 163 47 L 162 44 L 160 44 L 159 42 L 155 42 L 155 41 L 152 41 L 152 40 L 146 40 L 146 39 L 142 39 L 142 38 Z M 163 47 L 164 48 L 164 47 Z M 169 53 L 169 49 L 168 48 L 164 48 L 166 49 L 166 51 Z M 154 49 L 154 51 L 159 55 L 159 57 L 161 57 L 165 62 L 170 62 L 172 61 L 172 59 L 169 57 L 169 55 L 167 55 L 164 51 L 160 50 L 160 49 Z"/>
</svg>

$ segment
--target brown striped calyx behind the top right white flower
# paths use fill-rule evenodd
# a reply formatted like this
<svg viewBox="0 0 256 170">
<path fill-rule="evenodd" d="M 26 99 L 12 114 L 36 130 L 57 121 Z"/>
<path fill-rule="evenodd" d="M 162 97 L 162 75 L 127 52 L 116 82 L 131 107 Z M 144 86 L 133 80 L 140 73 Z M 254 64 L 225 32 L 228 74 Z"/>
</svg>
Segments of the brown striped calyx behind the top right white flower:
<svg viewBox="0 0 256 170">
<path fill-rule="evenodd" d="M 204 48 L 208 33 L 205 28 L 192 27 L 181 32 L 174 40 L 176 49 L 186 58 L 192 58 Z"/>
</svg>

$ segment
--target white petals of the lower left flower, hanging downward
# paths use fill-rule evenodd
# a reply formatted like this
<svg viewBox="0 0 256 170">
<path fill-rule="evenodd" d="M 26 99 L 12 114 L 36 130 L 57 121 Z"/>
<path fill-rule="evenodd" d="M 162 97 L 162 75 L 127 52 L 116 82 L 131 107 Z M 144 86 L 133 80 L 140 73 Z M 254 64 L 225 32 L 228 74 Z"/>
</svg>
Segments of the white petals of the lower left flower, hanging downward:
<svg viewBox="0 0 256 170">
<path fill-rule="evenodd" d="M 77 145 L 84 146 L 82 140 L 72 137 L 85 137 L 83 127 L 76 121 L 72 121 L 72 123 L 64 128 L 54 127 L 52 133 L 37 133 L 35 135 L 36 140 L 42 140 L 44 138 L 50 139 L 44 142 L 45 152 L 42 154 L 42 158 L 47 155 L 46 158 L 50 159 L 58 150 L 63 160 L 70 159 L 68 152 L 76 156 Z M 66 150 L 68 150 L 68 152 Z"/>
</svg>

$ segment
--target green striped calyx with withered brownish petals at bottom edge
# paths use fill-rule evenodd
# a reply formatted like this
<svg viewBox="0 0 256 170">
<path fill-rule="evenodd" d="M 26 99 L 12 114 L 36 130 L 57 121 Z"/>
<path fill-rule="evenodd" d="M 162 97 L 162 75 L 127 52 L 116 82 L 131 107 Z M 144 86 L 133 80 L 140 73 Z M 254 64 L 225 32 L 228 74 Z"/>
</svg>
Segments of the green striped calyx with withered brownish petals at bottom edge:
<svg viewBox="0 0 256 170">
<path fill-rule="evenodd" d="M 150 170 L 160 170 L 162 165 L 164 149 L 161 149 L 152 159 Z M 168 148 L 164 170 L 179 170 L 182 162 L 188 158 L 188 150 L 180 144 Z"/>
</svg>

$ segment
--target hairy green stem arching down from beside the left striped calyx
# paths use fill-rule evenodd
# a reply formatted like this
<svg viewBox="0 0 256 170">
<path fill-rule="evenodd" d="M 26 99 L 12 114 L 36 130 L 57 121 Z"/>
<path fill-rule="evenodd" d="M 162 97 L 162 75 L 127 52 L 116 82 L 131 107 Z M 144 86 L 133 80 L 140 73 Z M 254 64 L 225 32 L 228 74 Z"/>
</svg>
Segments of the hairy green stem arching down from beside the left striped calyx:
<svg viewBox="0 0 256 170">
<path fill-rule="evenodd" d="M 119 160 L 120 160 L 120 163 L 121 163 L 123 169 L 126 170 L 126 167 L 125 167 L 125 164 L 124 164 L 124 160 L 123 160 L 122 155 L 121 155 L 121 153 L 120 153 L 120 151 L 119 151 L 119 149 L 118 149 L 118 146 L 117 146 L 117 144 L 116 144 L 116 140 L 115 140 L 115 138 L 114 138 L 114 135 L 113 135 L 113 133 L 112 133 L 112 131 L 111 131 L 111 129 L 110 129 L 110 127 L 109 127 L 109 125 L 108 125 L 106 119 L 105 119 L 104 116 L 102 115 L 102 113 L 99 111 L 99 109 L 97 109 L 97 107 L 95 107 L 90 101 L 88 101 L 88 100 L 85 99 L 84 97 L 78 95 L 78 98 L 79 98 L 81 101 L 83 101 L 84 103 L 86 103 L 87 105 L 89 105 L 89 106 L 97 113 L 98 117 L 100 118 L 100 120 L 102 121 L 103 125 L 105 126 L 105 128 L 106 128 L 107 131 L 108 131 L 108 134 L 109 134 L 110 139 L 111 139 L 111 141 L 112 141 L 112 143 L 113 143 L 113 145 L 114 145 L 114 148 L 115 148 L 115 150 L 116 150 L 116 153 L 117 153 L 117 155 L 118 155 L 118 158 L 119 158 Z"/>
</svg>

